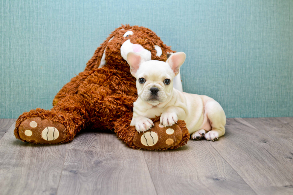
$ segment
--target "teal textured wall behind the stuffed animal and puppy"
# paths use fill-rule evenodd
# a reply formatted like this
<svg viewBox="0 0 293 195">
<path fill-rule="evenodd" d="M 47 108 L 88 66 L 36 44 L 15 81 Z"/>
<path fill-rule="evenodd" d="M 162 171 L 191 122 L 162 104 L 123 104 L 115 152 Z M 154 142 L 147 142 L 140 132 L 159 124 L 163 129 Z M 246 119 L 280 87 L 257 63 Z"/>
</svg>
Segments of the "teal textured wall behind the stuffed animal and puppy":
<svg viewBox="0 0 293 195">
<path fill-rule="evenodd" d="M 0 118 L 52 108 L 120 24 L 184 51 L 184 91 L 227 117 L 293 116 L 292 0 L 14 0 L 0 2 Z"/>
</svg>

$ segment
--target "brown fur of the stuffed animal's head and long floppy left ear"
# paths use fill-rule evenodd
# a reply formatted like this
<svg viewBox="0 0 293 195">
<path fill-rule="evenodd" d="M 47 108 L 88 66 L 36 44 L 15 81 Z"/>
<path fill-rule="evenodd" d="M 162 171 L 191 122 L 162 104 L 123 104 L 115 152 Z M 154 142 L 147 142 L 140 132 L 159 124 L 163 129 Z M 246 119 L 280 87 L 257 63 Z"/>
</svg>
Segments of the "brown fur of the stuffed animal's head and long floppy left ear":
<svg viewBox="0 0 293 195">
<path fill-rule="evenodd" d="M 129 37 L 123 37 L 123 34 L 129 30 L 132 30 L 134 34 Z M 109 42 L 112 37 L 114 37 L 114 39 Z M 141 44 L 145 49 L 149 50 L 152 53 L 152 59 L 154 60 L 166 61 L 168 55 L 167 52 L 176 52 L 171 50 L 171 47 L 165 45 L 160 37 L 158 37 L 152 30 L 145 27 L 129 26 L 128 24 L 122 25 L 113 31 L 101 46 L 97 48 L 94 56 L 86 64 L 86 69 L 62 87 L 53 100 L 53 106 L 65 96 L 77 94 L 80 84 L 99 67 L 105 49 L 107 66 L 116 70 L 121 69 L 123 72 L 125 71 L 128 73 L 129 77 L 132 77 L 129 72 L 129 65 L 120 55 L 120 47 L 128 39 L 130 39 L 131 43 Z M 155 50 L 155 45 L 162 48 L 163 53 L 161 56 L 156 56 L 157 51 Z M 129 80 L 130 78 L 126 79 Z"/>
</svg>

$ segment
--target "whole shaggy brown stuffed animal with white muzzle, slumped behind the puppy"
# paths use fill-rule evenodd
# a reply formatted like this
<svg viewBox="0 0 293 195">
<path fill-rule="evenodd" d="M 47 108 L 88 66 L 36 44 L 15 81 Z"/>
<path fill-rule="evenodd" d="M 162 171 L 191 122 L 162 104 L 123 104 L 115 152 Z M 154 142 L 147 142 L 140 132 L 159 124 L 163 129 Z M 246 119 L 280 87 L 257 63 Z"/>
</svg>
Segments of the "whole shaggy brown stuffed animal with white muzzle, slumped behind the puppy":
<svg viewBox="0 0 293 195">
<path fill-rule="evenodd" d="M 67 143 L 80 130 L 114 130 L 134 149 L 167 150 L 185 145 L 190 137 L 184 121 L 162 127 L 159 117 L 154 127 L 138 133 L 130 126 L 133 102 L 137 97 L 135 78 L 125 58 L 140 53 L 145 60 L 166 61 L 174 52 L 145 27 L 122 25 L 101 44 L 86 69 L 57 93 L 53 108 L 37 108 L 19 116 L 16 138 L 41 144 Z"/>
</svg>

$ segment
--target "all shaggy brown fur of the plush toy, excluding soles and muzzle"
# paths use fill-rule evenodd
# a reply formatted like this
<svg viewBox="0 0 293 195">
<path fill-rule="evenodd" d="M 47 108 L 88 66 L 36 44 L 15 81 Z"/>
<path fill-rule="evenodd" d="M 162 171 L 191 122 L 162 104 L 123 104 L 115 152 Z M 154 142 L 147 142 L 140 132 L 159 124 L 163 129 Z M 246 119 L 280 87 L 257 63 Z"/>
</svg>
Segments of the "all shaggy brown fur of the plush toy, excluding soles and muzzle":
<svg viewBox="0 0 293 195">
<path fill-rule="evenodd" d="M 129 30 L 133 31 L 133 35 L 123 37 Z M 148 28 L 122 25 L 97 48 L 85 70 L 62 87 L 54 98 L 54 107 L 51 110 L 38 108 L 19 116 L 14 131 L 16 138 L 21 139 L 18 131 L 24 120 L 39 117 L 64 125 L 65 131 L 62 133 L 66 133 L 66 139 L 61 143 L 71 141 L 85 128 L 115 128 L 117 136 L 129 147 L 139 149 L 132 141 L 137 131 L 135 127 L 130 126 L 133 102 L 137 97 L 135 78 L 130 74 L 129 65 L 120 54 L 121 45 L 129 39 L 131 43 L 140 44 L 149 50 L 154 60 L 166 61 L 167 53 L 175 52 Z M 155 45 L 161 47 L 161 56 L 156 56 Z M 99 68 L 104 51 L 106 65 Z M 189 139 L 185 122 L 178 121 L 178 125 L 183 132 L 182 140 L 177 146 L 169 149 L 178 148 Z"/>
</svg>

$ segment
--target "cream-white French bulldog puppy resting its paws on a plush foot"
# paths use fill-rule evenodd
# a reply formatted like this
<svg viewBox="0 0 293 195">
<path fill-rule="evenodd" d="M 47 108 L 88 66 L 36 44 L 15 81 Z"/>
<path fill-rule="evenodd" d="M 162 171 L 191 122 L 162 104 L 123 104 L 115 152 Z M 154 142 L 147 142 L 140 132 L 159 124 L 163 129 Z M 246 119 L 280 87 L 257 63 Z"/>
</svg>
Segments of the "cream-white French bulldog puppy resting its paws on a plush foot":
<svg viewBox="0 0 293 195">
<path fill-rule="evenodd" d="M 160 123 L 174 125 L 184 120 L 192 139 L 216 140 L 225 133 L 226 116 L 218 102 L 208 96 L 180 92 L 173 79 L 185 61 L 185 53 L 174 53 L 166 62 L 144 59 L 128 53 L 127 62 L 136 78 L 138 99 L 134 102 L 132 126 L 138 132 L 154 124 L 149 118 L 160 117 Z"/>
</svg>

